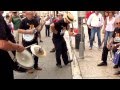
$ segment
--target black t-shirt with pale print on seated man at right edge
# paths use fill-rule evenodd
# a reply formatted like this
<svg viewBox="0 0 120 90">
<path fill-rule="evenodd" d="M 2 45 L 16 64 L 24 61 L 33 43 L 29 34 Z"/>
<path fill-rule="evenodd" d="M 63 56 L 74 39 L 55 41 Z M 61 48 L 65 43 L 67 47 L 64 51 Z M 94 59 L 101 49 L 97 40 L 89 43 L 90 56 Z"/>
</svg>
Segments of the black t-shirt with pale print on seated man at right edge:
<svg viewBox="0 0 120 90">
<path fill-rule="evenodd" d="M 113 44 L 120 43 L 120 28 L 115 28 L 112 37 L 114 39 Z"/>
</svg>

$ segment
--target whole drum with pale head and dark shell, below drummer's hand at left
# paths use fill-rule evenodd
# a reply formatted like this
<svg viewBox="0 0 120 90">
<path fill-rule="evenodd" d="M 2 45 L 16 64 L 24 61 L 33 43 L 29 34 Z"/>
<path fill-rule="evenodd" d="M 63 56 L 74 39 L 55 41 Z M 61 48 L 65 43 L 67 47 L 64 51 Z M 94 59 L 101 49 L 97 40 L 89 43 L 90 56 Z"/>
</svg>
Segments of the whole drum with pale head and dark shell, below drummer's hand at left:
<svg viewBox="0 0 120 90">
<path fill-rule="evenodd" d="M 14 62 L 15 61 L 15 62 Z M 15 71 L 26 72 L 33 68 L 34 60 L 32 54 L 24 50 L 23 52 L 16 52 L 16 60 L 13 61 L 13 67 Z"/>
</svg>

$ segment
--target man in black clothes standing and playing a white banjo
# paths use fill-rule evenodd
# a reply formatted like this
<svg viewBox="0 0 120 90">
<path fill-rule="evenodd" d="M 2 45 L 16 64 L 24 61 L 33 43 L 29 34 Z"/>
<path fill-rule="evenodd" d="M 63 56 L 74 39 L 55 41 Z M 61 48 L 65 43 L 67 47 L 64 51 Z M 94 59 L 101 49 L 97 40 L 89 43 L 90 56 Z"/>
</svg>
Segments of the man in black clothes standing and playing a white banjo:
<svg viewBox="0 0 120 90">
<path fill-rule="evenodd" d="M 27 47 L 35 43 L 38 44 L 38 32 L 42 30 L 42 28 L 43 26 L 39 27 L 39 23 L 34 18 L 33 12 L 26 11 L 26 18 L 22 20 L 20 28 L 18 30 L 19 33 L 22 33 L 24 35 L 24 37 L 22 37 L 23 46 Z M 27 35 L 29 35 L 29 37 L 25 38 Z M 28 51 L 31 52 L 30 48 L 28 48 Z M 28 72 L 33 73 L 34 70 L 42 70 L 42 68 L 38 67 L 38 57 L 35 55 L 34 55 L 34 68 L 28 70 Z"/>
</svg>

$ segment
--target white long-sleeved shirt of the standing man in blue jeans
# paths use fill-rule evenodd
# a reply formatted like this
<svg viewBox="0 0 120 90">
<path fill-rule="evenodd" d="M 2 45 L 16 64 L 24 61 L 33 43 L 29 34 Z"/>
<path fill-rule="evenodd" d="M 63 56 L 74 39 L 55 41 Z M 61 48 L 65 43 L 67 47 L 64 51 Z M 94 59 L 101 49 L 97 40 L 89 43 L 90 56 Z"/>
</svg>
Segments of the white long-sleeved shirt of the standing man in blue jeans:
<svg viewBox="0 0 120 90">
<path fill-rule="evenodd" d="M 95 13 L 91 14 L 87 20 L 87 25 L 91 25 L 92 27 L 101 27 L 104 23 L 104 18 L 101 13 L 96 15 Z"/>
</svg>

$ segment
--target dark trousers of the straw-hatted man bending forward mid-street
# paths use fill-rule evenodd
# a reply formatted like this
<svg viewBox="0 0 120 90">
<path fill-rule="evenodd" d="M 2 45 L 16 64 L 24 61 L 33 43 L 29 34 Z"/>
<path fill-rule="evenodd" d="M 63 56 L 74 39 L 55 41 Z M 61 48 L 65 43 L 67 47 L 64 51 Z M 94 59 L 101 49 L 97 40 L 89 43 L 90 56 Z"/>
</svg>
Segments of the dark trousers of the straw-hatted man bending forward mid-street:
<svg viewBox="0 0 120 90">
<path fill-rule="evenodd" d="M 53 38 L 53 42 L 55 45 L 55 49 L 56 49 L 56 62 L 57 64 L 61 65 L 61 55 L 62 55 L 62 59 L 64 64 L 68 63 L 68 55 L 67 55 L 67 47 L 66 47 L 66 42 L 65 40 L 62 39 L 56 39 Z"/>
</svg>

